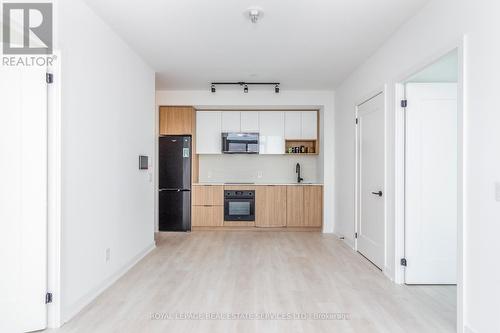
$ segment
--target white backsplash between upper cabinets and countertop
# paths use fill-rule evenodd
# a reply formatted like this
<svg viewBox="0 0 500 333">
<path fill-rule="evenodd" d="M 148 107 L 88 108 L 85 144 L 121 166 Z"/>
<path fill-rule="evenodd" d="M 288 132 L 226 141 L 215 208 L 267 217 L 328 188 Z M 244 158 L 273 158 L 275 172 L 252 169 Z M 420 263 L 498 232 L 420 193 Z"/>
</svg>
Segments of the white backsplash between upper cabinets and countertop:
<svg viewBox="0 0 500 333">
<path fill-rule="evenodd" d="M 295 183 L 300 163 L 305 182 L 321 183 L 318 156 L 200 155 L 201 183 Z"/>
</svg>

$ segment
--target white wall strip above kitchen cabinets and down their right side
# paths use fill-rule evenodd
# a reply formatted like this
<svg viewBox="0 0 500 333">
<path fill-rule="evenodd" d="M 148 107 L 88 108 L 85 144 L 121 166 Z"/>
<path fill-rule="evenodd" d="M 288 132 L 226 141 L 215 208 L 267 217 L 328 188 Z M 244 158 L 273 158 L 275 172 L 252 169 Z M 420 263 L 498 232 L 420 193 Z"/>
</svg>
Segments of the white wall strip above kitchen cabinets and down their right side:
<svg viewBox="0 0 500 333">
<path fill-rule="evenodd" d="M 332 91 L 287 91 L 282 87 L 279 94 L 274 90 L 251 91 L 218 89 L 212 94 L 206 91 L 157 91 L 156 105 L 192 105 L 198 108 L 304 108 L 320 110 L 320 155 L 317 175 L 324 181 L 324 232 L 333 232 L 334 202 L 334 93 Z M 158 133 L 158 130 L 157 130 Z"/>
</svg>

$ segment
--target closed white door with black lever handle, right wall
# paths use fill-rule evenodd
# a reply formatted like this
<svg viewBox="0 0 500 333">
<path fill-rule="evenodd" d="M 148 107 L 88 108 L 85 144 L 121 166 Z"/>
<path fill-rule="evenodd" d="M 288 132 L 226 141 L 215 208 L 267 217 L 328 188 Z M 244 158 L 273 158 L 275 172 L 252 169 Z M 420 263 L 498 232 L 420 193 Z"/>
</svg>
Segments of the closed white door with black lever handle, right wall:
<svg viewBox="0 0 500 333">
<path fill-rule="evenodd" d="M 358 106 L 357 250 L 384 266 L 384 94 Z"/>
</svg>

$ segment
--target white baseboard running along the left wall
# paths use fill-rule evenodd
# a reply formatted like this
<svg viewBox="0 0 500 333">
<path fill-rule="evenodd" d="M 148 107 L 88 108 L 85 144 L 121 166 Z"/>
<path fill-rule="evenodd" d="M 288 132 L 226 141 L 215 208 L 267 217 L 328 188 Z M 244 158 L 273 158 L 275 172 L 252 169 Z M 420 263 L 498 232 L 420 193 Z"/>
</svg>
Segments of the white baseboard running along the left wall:
<svg viewBox="0 0 500 333">
<path fill-rule="evenodd" d="M 112 284 L 114 284 L 119 278 L 121 278 L 125 273 L 127 273 L 132 267 L 134 267 L 139 261 L 141 261 L 149 252 L 151 252 L 156 247 L 155 242 L 149 244 L 144 250 L 140 251 L 135 257 L 133 257 L 129 262 L 118 269 L 115 274 L 111 275 L 100 283 L 97 287 L 89 291 L 78 301 L 68 306 L 66 310 L 62 312 L 62 324 L 70 321 L 74 316 L 76 316 L 80 311 L 83 310 L 85 306 L 90 304 L 94 299 L 97 298 L 102 292 L 108 289 Z"/>
</svg>

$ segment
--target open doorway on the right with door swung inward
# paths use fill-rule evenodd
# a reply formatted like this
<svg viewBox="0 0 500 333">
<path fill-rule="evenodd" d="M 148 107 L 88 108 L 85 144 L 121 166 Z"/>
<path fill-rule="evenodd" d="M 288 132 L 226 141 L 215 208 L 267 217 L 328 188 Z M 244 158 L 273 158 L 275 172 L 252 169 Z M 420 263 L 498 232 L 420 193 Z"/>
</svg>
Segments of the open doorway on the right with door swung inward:
<svg viewBox="0 0 500 333">
<path fill-rule="evenodd" d="M 402 189 L 398 207 L 403 212 L 399 252 L 396 248 L 402 268 L 399 282 L 439 294 L 447 309 L 443 316 L 450 322 L 456 322 L 461 302 L 457 295 L 462 205 L 459 64 L 457 49 L 403 80 L 403 117 L 397 125 L 402 129 L 397 158 L 402 172 L 396 177 Z"/>
</svg>

